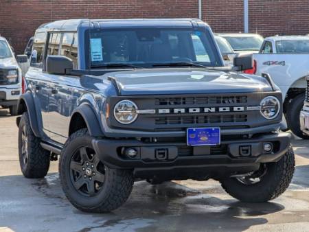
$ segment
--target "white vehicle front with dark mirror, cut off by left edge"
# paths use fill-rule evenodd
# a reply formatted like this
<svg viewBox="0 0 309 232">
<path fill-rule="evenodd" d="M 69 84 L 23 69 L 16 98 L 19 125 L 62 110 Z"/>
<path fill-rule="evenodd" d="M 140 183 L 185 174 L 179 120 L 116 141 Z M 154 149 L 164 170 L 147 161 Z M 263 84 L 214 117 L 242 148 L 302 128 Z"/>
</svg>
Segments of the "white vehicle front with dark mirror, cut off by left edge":
<svg viewBox="0 0 309 232">
<path fill-rule="evenodd" d="M 19 62 L 27 62 L 27 56 L 17 56 Z M 22 93 L 22 72 L 8 41 L 0 36 L 0 106 L 17 114 L 17 102 Z"/>
</svg>

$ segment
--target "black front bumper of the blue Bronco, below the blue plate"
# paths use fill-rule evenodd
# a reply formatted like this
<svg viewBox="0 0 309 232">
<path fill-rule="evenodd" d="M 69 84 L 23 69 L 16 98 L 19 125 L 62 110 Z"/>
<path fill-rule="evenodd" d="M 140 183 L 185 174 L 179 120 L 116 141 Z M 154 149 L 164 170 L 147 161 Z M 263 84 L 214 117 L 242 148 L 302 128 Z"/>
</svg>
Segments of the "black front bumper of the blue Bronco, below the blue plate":
<svg viewBox="0 0 309 232">
<path fill-rule="evenodd" d="M 273 152 L 262 151 L 264 142 L 273 143 Z M 93 139 L 93 148 L 100 160 L 111 168 L 126 168 L 143 172 L 173 170 L 192 167 L 242 170 L 256 169 L 260 163 L 278 161 L 290 146 L 290 135 L 285 132 L 259 135 L 251 139 L 222 141 L 220 148 L 209 146 L 191 147 L 185 143 L 144 143 L 136 139 Z M 138 155 L 130 159 L 124 154 L 125 148 L 135 148 Z M 249 150 L 243 154 L 242 149 Z M 187 152 L 180 152 L 187 149 Z M 211 153 L 211 150 L 214 152 Z M 159 154 L 159 152 L 163 152 Z M 192 153 L 190 153 L 192 152 Z M 254 167 L 254 168 L 253 168 Z"/>
</svg>

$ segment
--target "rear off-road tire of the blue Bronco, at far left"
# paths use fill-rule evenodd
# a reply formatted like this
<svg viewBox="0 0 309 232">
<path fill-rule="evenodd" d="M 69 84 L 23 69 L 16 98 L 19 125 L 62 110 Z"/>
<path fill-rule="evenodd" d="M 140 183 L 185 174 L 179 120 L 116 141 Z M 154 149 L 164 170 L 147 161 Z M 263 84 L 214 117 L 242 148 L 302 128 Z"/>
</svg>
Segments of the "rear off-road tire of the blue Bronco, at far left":
<svg viewBox="0 0 309 232">
<path fill-rule="evenodd" d="M 21 135 L 23 126 L 25 126 L 27 135 L 27 163 L 24 163 L 22 153 Z M 23 113 L 19 122 L 19 164 L 21 165 L 21 172 L 26 178 L 43 178 L 47 175 L 50 152 L 43 149 L 40 143 L 41 139 L 32 132 L 28 113 Z"/>
</svg>

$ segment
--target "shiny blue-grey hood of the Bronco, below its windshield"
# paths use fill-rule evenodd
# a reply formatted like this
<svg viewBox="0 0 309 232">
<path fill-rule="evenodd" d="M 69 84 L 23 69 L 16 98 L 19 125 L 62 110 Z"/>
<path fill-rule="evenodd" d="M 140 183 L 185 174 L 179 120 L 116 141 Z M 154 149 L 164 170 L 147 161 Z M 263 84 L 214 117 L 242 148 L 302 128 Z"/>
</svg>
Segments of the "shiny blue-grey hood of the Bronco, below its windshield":
<svg viewBox="0 0 309 232">
<path fill-rule="evenodd" d="M 121 95 L 272 91 L 262 77 L 207 69 L 136 69 L 104 76 L 115 78 Z"/>
</svg>

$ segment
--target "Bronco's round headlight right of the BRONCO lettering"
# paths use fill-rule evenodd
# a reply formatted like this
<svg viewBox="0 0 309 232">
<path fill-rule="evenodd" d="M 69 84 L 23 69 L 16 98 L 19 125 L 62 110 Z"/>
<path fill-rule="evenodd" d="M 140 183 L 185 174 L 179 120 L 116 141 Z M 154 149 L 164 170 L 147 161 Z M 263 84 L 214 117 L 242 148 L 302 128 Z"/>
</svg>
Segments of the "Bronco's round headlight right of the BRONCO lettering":
<svg viewBox="0 0 309 232">
<path fill-rule="evenodd" d="M 277 117 L 280 111 L 280 102 L 277 99 L 277 97 L 273 96 L 265 97 L 261 101 L 260 106 L 261 106 L 260 112 L 266 119 L 274 119 L 275 117 Z"/>
</svg>

